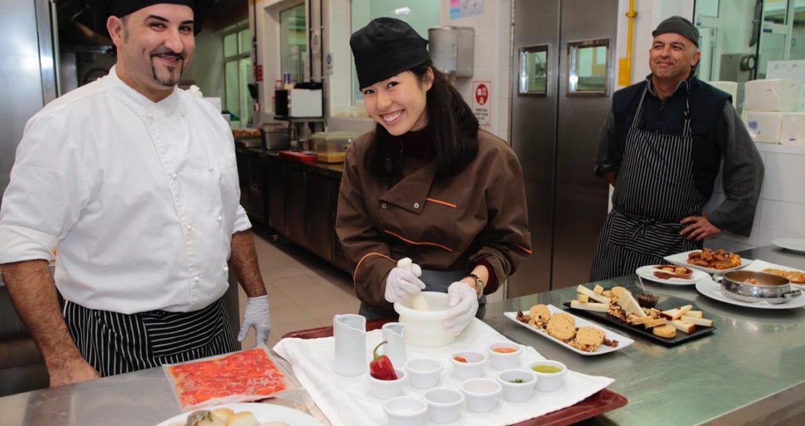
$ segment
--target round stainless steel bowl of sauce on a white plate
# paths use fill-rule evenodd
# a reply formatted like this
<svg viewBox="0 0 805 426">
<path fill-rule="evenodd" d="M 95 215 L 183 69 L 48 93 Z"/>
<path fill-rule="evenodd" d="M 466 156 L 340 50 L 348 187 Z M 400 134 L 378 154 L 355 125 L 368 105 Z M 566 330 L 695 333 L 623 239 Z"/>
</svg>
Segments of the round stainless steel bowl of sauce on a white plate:
<svg viewBox="0 0 805 426">
<path fill-rule="evenodd" d="M 756 284 L 750 284 L 749 280 L 754 280 Z M 766 272 L 726 272 L 720 280 L 720 285 L 721 294 L 747 303 L 766 301 L 779 305 L 802 295 L 799 290 L 791 289 L 790 281 L 786 277 Z"/>
</svg>

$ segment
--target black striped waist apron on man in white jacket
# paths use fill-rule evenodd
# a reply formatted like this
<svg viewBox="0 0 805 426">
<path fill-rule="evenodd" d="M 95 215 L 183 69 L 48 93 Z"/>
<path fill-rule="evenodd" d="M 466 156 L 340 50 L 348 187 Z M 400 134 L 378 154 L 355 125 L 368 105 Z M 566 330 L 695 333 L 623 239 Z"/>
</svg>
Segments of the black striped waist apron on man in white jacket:
<svg viewBox="0 0 805 426">
<path fill-rule="evenodd" d="M 78 350 L 101 376 L 183 363 L 235 350 L 223 299 L 192 312 L 117 313 L 64 304 Z"/>
</svg>

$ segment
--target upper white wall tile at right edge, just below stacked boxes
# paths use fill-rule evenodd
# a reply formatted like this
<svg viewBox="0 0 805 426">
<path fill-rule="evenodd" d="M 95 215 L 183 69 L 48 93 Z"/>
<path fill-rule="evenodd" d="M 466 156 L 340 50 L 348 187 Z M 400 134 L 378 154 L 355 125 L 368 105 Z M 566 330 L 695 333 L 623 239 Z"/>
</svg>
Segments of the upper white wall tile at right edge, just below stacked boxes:
<svg viewBox="0 0 805 426">
<path fill-rule="evenodd" d="M 805 203 L 805 155 L 762 153 L 766 156 L 763 199 Z"/>
</svg>

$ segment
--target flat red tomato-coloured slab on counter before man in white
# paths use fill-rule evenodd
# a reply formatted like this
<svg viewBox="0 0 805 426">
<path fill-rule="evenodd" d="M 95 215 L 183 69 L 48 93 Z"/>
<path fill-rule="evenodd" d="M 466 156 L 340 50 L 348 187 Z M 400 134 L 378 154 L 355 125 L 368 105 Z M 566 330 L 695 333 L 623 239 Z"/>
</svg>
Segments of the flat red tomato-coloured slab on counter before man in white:
<svg viewBox="0 0 805 426">
<path fill-rule="evenodd" d="M 286 389 L 285 376 L 259 347 L 166 368 L 184 408 L 233 395 L 262 399 Z"/>
</svg>

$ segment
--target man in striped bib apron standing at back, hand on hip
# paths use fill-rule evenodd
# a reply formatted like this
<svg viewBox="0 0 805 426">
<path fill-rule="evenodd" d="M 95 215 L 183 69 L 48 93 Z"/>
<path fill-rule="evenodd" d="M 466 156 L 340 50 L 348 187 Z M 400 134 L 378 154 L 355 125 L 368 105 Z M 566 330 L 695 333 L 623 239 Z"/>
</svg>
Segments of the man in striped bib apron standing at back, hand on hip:
<svg viewBox="0 0 805 426">
<path fill-rule="evenodd" d="M 591 281 L 696 250 L 721 231 L 748 236 L 763 165 L 725 92 L 694 76 L 699 31 L 678 16 L 652 33 L 645 81 L 615 92 L 596 164 L 613 184 Z M 720 164 L 725 201 L 704 213 Z"/>
</svg>

